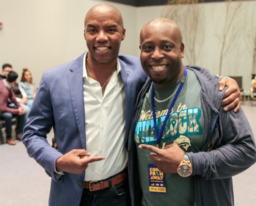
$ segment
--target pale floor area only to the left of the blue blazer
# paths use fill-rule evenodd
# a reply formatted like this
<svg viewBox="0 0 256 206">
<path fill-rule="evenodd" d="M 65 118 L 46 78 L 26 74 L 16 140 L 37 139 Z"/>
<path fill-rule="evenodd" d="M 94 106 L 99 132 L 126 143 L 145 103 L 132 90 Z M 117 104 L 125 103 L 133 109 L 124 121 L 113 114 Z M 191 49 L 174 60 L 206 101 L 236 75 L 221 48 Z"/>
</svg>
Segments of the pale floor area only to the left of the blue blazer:
<svg viewBox="0 0 256 206">
<path fill-rule="evenodd" d="M 51 178 L 28 157 L 20 141 L 16 145 L 0 145 L 1 206 L 46 206 L 50 182 Z"/>
</svg>

